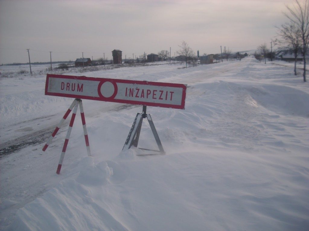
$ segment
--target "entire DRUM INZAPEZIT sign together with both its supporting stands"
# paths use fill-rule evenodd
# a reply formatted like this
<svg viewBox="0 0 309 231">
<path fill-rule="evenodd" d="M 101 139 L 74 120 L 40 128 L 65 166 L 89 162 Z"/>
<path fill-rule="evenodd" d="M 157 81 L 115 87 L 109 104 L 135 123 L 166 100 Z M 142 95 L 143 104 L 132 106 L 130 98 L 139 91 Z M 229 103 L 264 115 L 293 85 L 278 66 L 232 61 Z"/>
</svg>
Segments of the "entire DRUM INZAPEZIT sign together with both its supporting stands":
<svg viewBox="0 0 309 231">
<path fill-rule="evenodd" d="M 142 126 L 142 119 L 147 118 L 150 124 L 150 128 L 154 134 L 155 140 L 159 147 L 159 151 L 157 152 L 160 152 L 161 154 L 164 154 L 164 150 L 161 141 L 159 139 L 158 133 L 153 124 L 153 121 L 150 117 L 150 114 L 148 115 L 146 114 L 146 106 L 184 109 L 186 90 L 187 86 L 185 84 L 179 84 L 179 83 L 160 83 L 160 82 L 149 82 L 149 81 L 93 78 L 86 76 L 52 75 L 52 74 L 47 74 L 45 84 L 45 95 L 75 98 L 75 100 L 78 100 L 77 102 L 79 102 L 79 105 L 81 105 L 80 106 L 81 110 L 83 108 L 81 104 L 81 99 L 142 105 L 143 113 L 142 114 L 138 113 L 138 115 L 136 116 L 133 125 L 130 129 L 127 140 L 125 141 L 123 150 L 129 149 L 132 145 L 134 147 L 137 147 L 139 134 Z M 49 145 L 49 143 L 53 139 L 52 137 L 55 136 L 61 124 L 69 115 L 70 111 L 73 109 L 75 104 L 74 102 L 72 103 L 71 107 L 68 109 L 63 119 L 61 120 L 60 124 L 53 132 L 51 138 L 46 143 L 47 146 Z M 78 104 L 76 104 L 76 106 L 78 106 Z M 76 110 L 74 108 L 74 111 Z M 70 125 L 72 126 L 74 122 L 73 115 L 70 123 Z M 87 134 L 85 117 L 82 117 L 82 120 L 83 120 L 83 126 L 85 125 L 84 132 L 86 132 Z M 70 136 L 69 131 L 67 136 Z M 64 146 L 67 145 L 67 142 L 65 142 Z M 89 141 L 87 147 L 89 148 Z M 46 148 L 45 150 L 44 148 L 43 151 L 46 150 Z M 59 165 L 62 164 L 65 148 L 62 151 L 63 155 L 61 154 L 60 159 L 61 163 L 59 162 Z M 149 150 L 145 148 L 141 149 Z M 89 153 L 90 149 L 88 154 Z"/>
</svg>

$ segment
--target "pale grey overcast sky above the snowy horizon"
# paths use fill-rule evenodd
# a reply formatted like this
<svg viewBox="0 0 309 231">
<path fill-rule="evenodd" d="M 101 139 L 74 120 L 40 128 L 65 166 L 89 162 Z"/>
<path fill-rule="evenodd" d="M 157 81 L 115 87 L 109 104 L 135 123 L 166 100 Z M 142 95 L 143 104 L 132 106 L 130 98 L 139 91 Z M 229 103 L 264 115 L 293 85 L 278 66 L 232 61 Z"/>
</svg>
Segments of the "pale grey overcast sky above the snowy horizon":
<svg viewBox="0 0 309 231">
<path fill-rule="evenodd" d="M 270 47 L 293 0 L 0 0 L 0 63 L 122 58 L 179 50 L 200 54 Z M 177 55 L 177 54 L 176 54 Z"/>
</svg>

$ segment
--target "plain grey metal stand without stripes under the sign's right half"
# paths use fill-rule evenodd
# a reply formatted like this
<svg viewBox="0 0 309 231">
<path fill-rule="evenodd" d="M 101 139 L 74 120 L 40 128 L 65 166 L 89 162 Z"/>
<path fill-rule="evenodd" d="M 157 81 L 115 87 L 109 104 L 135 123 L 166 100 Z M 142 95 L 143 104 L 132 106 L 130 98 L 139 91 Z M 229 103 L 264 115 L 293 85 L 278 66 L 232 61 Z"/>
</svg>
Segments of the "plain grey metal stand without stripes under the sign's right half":
<svg viewBox="0 0 309 231">
<path fill-rule="evenodd" d="M 132 127 L 130 129 L 129 135 L 128 135 L 126 141 L 125 141 L 125 145 L 123 146 L 122 150 L 127 150 L 127 149 L 131 148 L 132 145 L 134 147 L 138 146 L 138 140 L 139 140 L 139 136 L 140 136 L 140 133 L 141 133 L 142 122 L 143 122 L 144 118 L 147 118 L 147 120 L 148 120 L 151 131 L 152 131 L 152 133 L 155 137 L 155 140 L 157 142 L 159 151 L 158 150 L 151 150 L 151 149 L 147 149 L 147 148 L 139 148 L 139 149 L 147 150 L 147 151 L 160 152 L 161 154 L 165 154 L 161 140 L 159 138 L 159 135 L 158 135 L 158 132 L 155 128 L 155 125 L 154 125 L 154 123 L 151 119 L 151 116 L 150 116 L 150 114 L 146 114 L 146 106 L 143 106 L 143 113 L 142 114 L 137 113 L 135 120 L 132 124 Z M 148 154 L 148 155 L 153 155 L 153 154 Z"/>
</svg>

